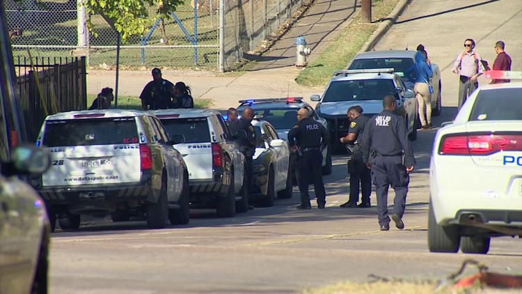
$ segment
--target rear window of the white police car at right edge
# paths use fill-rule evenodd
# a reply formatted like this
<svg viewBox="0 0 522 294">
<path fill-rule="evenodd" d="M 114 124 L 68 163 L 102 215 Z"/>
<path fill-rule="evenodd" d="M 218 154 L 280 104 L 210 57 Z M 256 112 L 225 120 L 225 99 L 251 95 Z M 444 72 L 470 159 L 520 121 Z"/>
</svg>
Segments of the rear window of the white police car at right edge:
<svg viewBox="0 0 522 294">
<path fill-rule="evenodd" d="M 470 121 L 522 121 L 522 88 L 482 90 L 477 95 Z"/>
</svg>

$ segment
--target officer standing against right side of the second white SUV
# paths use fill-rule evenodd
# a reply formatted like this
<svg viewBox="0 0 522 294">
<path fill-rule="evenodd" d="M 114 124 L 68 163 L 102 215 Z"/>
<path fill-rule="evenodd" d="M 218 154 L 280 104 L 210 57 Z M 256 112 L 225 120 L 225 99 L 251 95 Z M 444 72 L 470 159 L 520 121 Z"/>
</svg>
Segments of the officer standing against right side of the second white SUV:
<svg viewBox="0 0 522 294">
<path fill-rule="evenodd" d="M 235 109 L 234 109 L 235 110 Z M 236 110 L 237 112 L 237 110 Z M 246 162 L 246 178 L 248 181 L 248 187 L 252 187 L 253 179 L 252 179 L 252 161 L 253 155 L 255 152 L 255 145 L 257 144 L 258 138 L 255 136 L 254 127 L 252 125 L 252 120 L 254 118 L 254 111 L 250 107 L 246 107 L 243 109 L 241 114 L 241 118 L 235 121 L 235 123 L 230 123 L 230 130 L 232 134 L 235 134 L 237 130 L 244 130 L 246 132 L 246 139 L 237 139 L 236 142 L 239 144 L 239 151 L 245 155 Z M 230 118 L 229 118 L 230 119 Z"/>
</svg>

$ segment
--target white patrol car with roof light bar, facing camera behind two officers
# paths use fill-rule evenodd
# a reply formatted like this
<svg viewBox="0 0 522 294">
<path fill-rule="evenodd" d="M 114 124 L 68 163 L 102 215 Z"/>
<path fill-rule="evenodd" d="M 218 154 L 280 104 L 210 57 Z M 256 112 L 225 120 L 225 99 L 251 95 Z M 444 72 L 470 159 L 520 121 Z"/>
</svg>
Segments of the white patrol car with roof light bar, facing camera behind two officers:
<svg viewBox="0 0 522 294">
<path fill-rule="evenodd" d="M 359 105 L 363 107 L 363 115 L 373 116 L 382 111 L 386 95 L 397 99 L 397 114 L 404 118 L 409 139 L 416 140 L 418 103 L 413 91 L 393 73 L 393 68 L 336 71 L 322 97 L 312 95 L 310 99 L 318 101 L 315 111 L 328 122 L 331 143 L 341 146 L 339 138 L 348 134 L 349 107 Z"/>
</svg>

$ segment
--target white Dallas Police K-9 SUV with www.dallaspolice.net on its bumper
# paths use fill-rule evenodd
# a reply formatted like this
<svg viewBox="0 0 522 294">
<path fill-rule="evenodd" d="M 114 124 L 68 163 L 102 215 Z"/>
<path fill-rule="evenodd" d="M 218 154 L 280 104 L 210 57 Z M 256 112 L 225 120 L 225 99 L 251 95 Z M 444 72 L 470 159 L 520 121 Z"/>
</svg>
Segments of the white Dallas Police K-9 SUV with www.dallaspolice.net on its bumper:
<svg viewBox="0 0 522 294">
<path fill-rule="evenodd" d="M 54 227 L 77 229 L 80 215 L 115 221 L 143 213 L 151 229 L 189 222 L 189 173 L 153 114 L 121 109 L 70 111 L 45 118 L 37 146 L 52 165 L 33 185 Z"/>
</svg>

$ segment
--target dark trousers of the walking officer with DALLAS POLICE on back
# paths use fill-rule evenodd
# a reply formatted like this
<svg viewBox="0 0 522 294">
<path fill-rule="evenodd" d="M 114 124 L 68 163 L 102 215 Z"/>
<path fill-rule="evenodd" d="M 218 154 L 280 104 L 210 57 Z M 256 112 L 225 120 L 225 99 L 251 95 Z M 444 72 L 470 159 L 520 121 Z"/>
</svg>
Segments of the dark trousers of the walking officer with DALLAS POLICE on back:
<svg viewBox="0 0 522 294">
<path fill-rule="evenodd" d="M 379 224 L 389 224 L 388 217 L 388 188 L 395 189 L 393 213 L 402 217 L 406 209 L 406 194 L 410 182 L 406 167 L 402 165 L 402 156 L 377 156 L 371 162 L 372 180 L 377 193 L 377 212 Z"/>
</svg>

